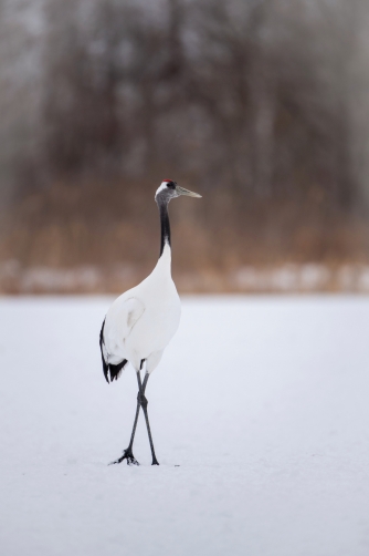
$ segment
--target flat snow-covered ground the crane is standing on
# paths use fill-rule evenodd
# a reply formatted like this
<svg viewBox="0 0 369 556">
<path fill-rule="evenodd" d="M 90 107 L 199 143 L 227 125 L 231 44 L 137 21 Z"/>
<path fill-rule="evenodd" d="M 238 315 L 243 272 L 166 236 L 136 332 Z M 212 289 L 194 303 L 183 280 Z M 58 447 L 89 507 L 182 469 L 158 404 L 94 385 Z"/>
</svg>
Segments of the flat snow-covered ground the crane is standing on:
<svg viewBox="0 0 369 556">
<path fill-rule="evenodd" d="M 187 298 L 148 383 L 108 385 L 108 298 L 0 300 L 0 554 L 367 556 L 369 298 Z M 176 466 L 180 465 L 180 466 Z"/>
</svg>

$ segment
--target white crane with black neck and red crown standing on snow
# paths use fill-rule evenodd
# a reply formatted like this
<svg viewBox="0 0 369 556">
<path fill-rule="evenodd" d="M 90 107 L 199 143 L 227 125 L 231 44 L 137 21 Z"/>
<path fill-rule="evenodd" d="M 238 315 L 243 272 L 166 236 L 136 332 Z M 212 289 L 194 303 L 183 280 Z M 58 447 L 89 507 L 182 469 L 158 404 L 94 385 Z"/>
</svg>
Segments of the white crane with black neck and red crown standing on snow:
<svg viewBox="0 0 369 556">
<path fill-rule="evenodd" d="M 201 197 L 177 185 L 171 179 L 161 183 L 155 195 L 161 223 L 159 260 L 152 272 L 138 286 L 119 296 L 106 313 L 99 334 L 103 370 L 107 382 L 117 380 L 129 362 L 137 373 L 138 394 L 134 426 L 128 447 L 113 463 L 124 460 L 138 465 L 133 453 L 137 420 L 143 408 L 150 442 L 152 465 L 159 465 L 147 412 L 145 390 L 150 373 L 158 365 L 165 348 L 175 336 L 180 320 L 181 305 L 171 278 L 171 246 L 168 204 L 180 195 Z M 140 370 L 146 363 L 141 382 Z"/>
</svg>

